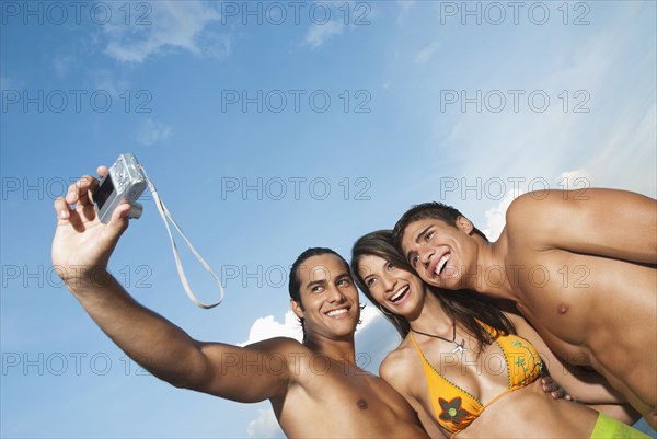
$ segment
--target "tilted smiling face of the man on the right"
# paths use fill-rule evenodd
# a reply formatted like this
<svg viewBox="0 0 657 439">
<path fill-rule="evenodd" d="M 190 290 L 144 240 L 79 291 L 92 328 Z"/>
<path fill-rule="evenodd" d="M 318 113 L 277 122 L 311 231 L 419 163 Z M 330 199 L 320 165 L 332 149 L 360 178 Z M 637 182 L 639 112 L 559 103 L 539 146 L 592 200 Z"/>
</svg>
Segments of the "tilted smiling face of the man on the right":
<svg viewBox="0 0 657 439">
<path fill-rule="evenodd" d="M 411 222 L 402 235 L 404 257 L 429 285 L 461 289 L 463 274 L 476 267 L 476 244 L 470 236 L 474 227 L 465 217 L 456 227 L 434 218 Z"/>
</svg>

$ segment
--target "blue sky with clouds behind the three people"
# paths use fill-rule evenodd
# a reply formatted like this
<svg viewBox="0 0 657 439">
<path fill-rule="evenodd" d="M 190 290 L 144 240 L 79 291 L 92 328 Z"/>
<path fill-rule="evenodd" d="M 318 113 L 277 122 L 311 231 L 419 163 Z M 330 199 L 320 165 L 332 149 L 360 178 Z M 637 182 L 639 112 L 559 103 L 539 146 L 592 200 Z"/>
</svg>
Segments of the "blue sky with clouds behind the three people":
<svg viewBox="0 0 657 439">
<path fill-rule="evenodd" d="M 134 152 L 227 299 L 194 307 L 150 197 L 111 261 L 193 337 L 298 335 L 287 274 L 411 205 L 492 238 L 520 192 L 657 195 L 656 3 L 1 1 L 2 437 L 275 437 L 143 376 L 50 267 L 53 199 Z M 197 296 L 211 278 L 183 253 Z M 377 370 L 394 333 L 367 312 Z"/>
</svg>

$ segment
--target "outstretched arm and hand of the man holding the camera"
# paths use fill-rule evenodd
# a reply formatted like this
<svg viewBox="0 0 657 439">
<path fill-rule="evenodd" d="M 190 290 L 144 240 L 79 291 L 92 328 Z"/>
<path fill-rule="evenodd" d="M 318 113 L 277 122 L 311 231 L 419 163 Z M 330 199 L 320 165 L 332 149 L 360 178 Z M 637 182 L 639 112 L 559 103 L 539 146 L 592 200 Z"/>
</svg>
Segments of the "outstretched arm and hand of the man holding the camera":
<svg viewBox="0 0 657 439">
<path fill-rule="evenodd" d="M 105 172 L 99 169 L 99 174 Z M 175 386 L 240 402 L 283 396 L 290 374 L 280 365 L 286 359 L 281 351 L 293 344 L 301 348 L 297 342 L 273 339 L 240 348 L 194 340 L 137 303 L 107 273 L 110 256 L 128 227 L 129 205 L 117 208 L 110 223 L 101 223 L 91 201 L 96 185 L 87 175 L 55 201 L 53 264 L 89 315 L 130 358 Z"/>
</svg>

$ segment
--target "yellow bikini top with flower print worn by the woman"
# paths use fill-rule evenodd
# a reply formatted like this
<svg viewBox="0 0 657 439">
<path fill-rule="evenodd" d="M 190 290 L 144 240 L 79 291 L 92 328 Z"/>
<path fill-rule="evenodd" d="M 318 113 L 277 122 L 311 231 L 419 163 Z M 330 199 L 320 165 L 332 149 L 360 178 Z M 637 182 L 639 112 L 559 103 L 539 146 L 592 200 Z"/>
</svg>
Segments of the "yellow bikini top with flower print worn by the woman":
<svg viewBox="0 0 657 439">
<path fill-rule="evenodd" d="M 413 333 L 408 333 L 413 346 L 415 346 L 417 354 L 424 360 L 424 372 L 429 388 L 429 398 L 434 408 L 434 417 L 442 428 L 452 434 L 451 437 L 464 430 L 465 427 L 482 414 L 484 408 L 499 397 L 535 381 L 540 377 L 543 367 L 537 349 L 528 340 L 517 335 L 507 335 L 479 320 L 477 323 L 484 331 L 491 334 L 502 349 L 508 373 L 508 389 L 486 405 L 482 404 L 474 395 L 449 381 L 434 368 L 419 349 Z"/>
</svg>

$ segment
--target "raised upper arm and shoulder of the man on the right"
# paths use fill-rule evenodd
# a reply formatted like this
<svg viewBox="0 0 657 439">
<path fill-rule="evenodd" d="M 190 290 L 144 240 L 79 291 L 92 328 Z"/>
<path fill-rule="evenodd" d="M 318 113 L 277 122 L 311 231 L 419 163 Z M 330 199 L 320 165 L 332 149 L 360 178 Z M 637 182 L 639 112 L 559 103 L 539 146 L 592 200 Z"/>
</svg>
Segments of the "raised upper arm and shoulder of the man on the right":
<svg viewBox="0 0 657 439">
<path fill-rule="evenodd" d="M 507 231 L 540 250 L 657 264 L 657 201 L 627 190 L 525 194 L 507 210 Z"/>
</svg>

